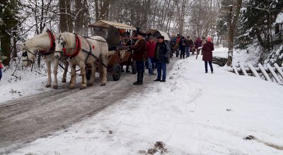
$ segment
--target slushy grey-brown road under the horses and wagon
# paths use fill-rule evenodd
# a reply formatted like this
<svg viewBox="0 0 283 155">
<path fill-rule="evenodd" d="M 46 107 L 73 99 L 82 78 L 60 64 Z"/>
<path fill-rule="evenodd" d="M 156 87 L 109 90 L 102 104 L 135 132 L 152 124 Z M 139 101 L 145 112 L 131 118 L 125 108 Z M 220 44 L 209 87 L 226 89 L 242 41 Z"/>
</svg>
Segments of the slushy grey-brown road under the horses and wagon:
<svg viewBox="0 0 283 155">
<path fill-rule="evenodd" d="M 173 67 L 173 63 L 169 68 Z M 33 82 L 37 81 L 35 85 L 44 87 L 41 81 L 45 81 L 45 78 L 36 79 Z M 86 116 L 98 113 L 110 104 L 127 99 L 133 93 L 140 94 L 147 87 L 146 85 L 155 80 L 155 77 L 146 75 L 145 85 L 137 87 L 132 85 L 136 78 L 137 75 L 122 73 L 118 82 L 112 81 L 110 76 L 106 87 L 100 87 L 99 82 L 96 82 L 96 85 L 85 90 L 80 90 L 79 85 L 76 89 L 69 90 L 62 84 L 59 89 L 42 88 L 44 90 L 40 94 L 36 94 L 40 91 L 35 90 L 34 95 L 0 104 L 0 154 L 22 147 L 23 143 L 47 137 L 52 132 L 67 128 Z M 35 85 L 32 85 L 33 82 L 23 82 L 18 85 L 22 85 L 23 89 L 24 87 L 32 89 L 35 88 Z M 9 86 L 14 87 L 13 85 L 1 87 L 8 91 Z M 22 93 L 30 92 L 22 91 Z M 8 100 L 13 95 L 4 97 Z"/>
</svg>

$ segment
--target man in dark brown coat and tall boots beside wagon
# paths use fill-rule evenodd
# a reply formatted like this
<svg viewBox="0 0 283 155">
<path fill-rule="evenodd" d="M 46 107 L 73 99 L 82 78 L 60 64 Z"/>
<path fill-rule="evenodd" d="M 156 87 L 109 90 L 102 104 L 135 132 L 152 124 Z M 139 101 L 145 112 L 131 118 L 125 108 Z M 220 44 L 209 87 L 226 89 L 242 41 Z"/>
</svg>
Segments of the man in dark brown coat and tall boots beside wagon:
<svg viewBox="0 0 283 155">
<path fill-rule="evenodd" d="M 144 58 L 146 52 L 146 40 L 141 32 L 137 33 L 137 42 L 132 46 L 134 50 L 133 61 L 137 64 L 137 82 L 134 85 L 142 85 L 144 82 Z"/>
</svg>

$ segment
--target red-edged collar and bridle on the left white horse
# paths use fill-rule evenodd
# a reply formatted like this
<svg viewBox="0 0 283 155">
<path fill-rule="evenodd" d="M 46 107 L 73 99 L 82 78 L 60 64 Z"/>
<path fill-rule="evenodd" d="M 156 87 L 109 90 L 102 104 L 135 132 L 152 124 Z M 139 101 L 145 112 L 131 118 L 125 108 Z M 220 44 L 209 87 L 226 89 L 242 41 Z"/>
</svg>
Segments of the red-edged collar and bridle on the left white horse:
<svg viewBox="0 0 283 155">
<path fill-rule="evenodd" d="M 54 35 L 52 34 L 52 32 L 50 31 L 50 30 L 47 30 L 46 31 L 47 33 L 48 33 L 48 35 L 49 35 L 49 37 L 50 37 L 50 49 L 49 49 L 49 51 L 40 51 L 40 53 L 42 54 L 42 55 L 44 55 L 44 56 L 47 56 L 47 55 L 50 55 L 50 54 L 52 54 L 53 53 L 53 51 L 54 51 L 54 49 L 55 49 L 55 37 L 54 37 Z M 28 62 L 31 62 L 31 63 L 33 63 L 33 61 L 31 61 L 29 58 L 28 58 L 28 53 L 30 53 L 30 54 L 33 54 L 34 56 L 35 56 L 35 54 L 33 53 L 33 52 L 31 52 L 30 50 L 28 50 L 28 49 L 25 49 L 25 51 L 23 52 L 23 55 L 22 56 L 26 56 L 27 57 L 27 59 L 26 60 L 23 60 L 23 61 L 28 61 Z"/>
</svg>

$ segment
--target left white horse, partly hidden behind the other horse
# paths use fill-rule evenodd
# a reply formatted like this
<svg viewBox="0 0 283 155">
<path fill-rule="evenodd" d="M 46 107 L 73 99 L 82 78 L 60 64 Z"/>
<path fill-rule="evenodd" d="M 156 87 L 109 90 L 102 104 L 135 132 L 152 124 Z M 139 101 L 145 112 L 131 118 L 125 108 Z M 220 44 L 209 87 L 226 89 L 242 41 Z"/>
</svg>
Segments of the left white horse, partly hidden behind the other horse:
<svg viewBox="0 0 283 155">
<path fill-rule="evenodd" d="M 47 66 L 47 73 L 48 73 L 48 80 L 46 87 L 51 87 L 51 63 L 54 62 L 54 83 L 52 88 L 57 89 L 58 88 L 58 82 L 57 82 L 57 70 L 59 66 L 59 60 L 54 57 L 54 49 L 55 49 L 55 38 L 57 37 L 57 34 L 52 34 L 49 30 L 47 32 L 42 32 L 40 35 L 36 35 L 32 39 L 29 39 L 28 41 L 24 42 L 21 46 L 23 51 L 23 66 L 28 67 L 30 66 L 34 59 L 35 59 L 35 52 L 36 51 L 43 51 L 45 54 L 45 64 Z M 62 58 L 62 62 L 64 63 L 64 74 L 62 78 L 62 82 L 66 82 L 66 76 L 67 71 L 69 67 L 69 63 L 66 58 Z"/>
</svg>

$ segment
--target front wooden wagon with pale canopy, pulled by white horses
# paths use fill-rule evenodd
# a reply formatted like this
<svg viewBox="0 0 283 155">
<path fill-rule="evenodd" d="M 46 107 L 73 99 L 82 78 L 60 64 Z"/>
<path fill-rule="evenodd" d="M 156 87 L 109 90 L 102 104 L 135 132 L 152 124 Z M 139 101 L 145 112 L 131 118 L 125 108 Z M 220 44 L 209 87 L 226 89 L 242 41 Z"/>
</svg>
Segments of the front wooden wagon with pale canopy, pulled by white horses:
<svg viewBox="0 0 283 155">
<path fill-rule="evenodd" d="M 117 30 L 117 32 L 119 32 L 119 34 L 121 32 L 126 32 L 126 30 L 128 31 L 127 34 L 130 34 L 129 31 L 133 31 L 133 30 L 137 30 L 136 27 L 132 27 L 130 25 L 125 25 L 122 23 L 115 23 L 115 22 L 110 22 L 110 21 L 106 21 L 106 20 L 100 20 L 97 23 L 93 23 L 91 25 L 88 25 L 88 27 L 93 27 L 94 29 L 96 29 L 96 33 L 93 35 L 99 35 L 101 37 L 104 37 L 106 40 L 107 36 L 105 35 L 105 31 L 107 32 L 107 30 L 111 27 L 115 27 L 115 30 Z M 98 30 L 98 31 L 97 31 Z M 114 30 L 114 31 L 115 31 Z M 104 31 L 104 32 L 103 32 Z M 113 30 L 112 30 L 113 31 Z M 109 34 L 108 34 L 109 35 Z M 119 39 L 120 42 L 130 42 L 132 43 L 132 39 L 136 39 L 134 37 L 127 37 L 127 36 L 122 36 L 122 34 L 120 34 L 119 36 L 108 36 L 108 38 L 115 38 L 115 39 Z M 119 38 L 117 38 L 119 37 Z M 125 44 L 120 44 L 117 46 L 110 46 L 110 50 L 109 50 L 109 61 L 108 61 L 108 74 L 112 75 L 113 80 L 117 81 L 120 80 L 120 76 L 123 70 L 123 66 L 131 66 L 132 67 L 132 73 L 136 74 L 137 73 L 137 68 L 136 68 L 136 64 L 135 61 L 132 60 L 132 50 L 129 49 L 129 46 L 132 44 L 127 44 L 127 46 Z M 109 46 L 109 42 L 108 42 L 108 46 Z M 96 62 L 97 66 L 99 66 L 99 60 Z M 91 75 L 91 70 L 88 68 L 86 69 L 86 73 L 87 73 L 87 78 L 90 77 Z"/>
</svg>

